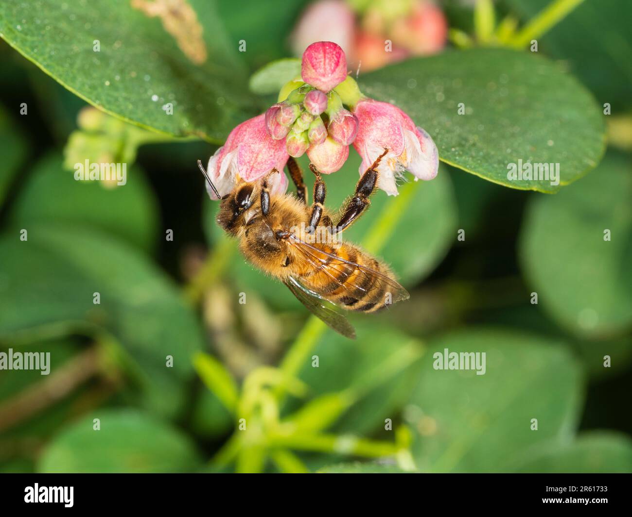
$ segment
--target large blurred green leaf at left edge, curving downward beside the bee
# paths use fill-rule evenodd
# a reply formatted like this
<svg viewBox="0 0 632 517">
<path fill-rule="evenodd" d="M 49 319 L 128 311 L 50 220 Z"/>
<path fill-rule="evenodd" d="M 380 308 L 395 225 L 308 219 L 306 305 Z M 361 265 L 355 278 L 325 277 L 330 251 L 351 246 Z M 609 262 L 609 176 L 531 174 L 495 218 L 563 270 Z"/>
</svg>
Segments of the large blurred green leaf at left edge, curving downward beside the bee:
<svg viewBox="0 0 632 517">
<path fill-rule="evenodd" d="M 191 356 L 202 348 L 202 333 L 164 273 L 94 230 L 32 225 L 28 241 L 19 235 L 14 230 L 0 239 L 6 259 L 0 339 L 99 336 L 106 330 L 125 350 L 121 361 L 140 388 L 139 402 L 161 415 L 176 415 L 186 401 Z M 173 367 L 167 367 L 167 355 Z"/>
</svg>

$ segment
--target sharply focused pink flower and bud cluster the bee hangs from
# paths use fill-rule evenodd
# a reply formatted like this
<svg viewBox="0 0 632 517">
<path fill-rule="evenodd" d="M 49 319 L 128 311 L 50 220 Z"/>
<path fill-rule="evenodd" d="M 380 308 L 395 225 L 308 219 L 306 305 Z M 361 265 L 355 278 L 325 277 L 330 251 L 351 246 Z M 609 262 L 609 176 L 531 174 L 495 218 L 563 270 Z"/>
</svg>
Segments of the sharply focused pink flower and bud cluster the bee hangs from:
<svg viewBox="0 0 632 517">
<path fill-rule="evenodd" d="M 398 107 L 365 97 L 347 75 L 346 56 L 335 43 L 309 45 L 300 79 L 284 86 L 279 99 L 233 129 L 210 158 L 208 172 L 220 196 L 238 181 L 283 171 L 290 156 L 304 153 L 320 172 L 331 174 L 346 162 L 350 145 L 362 157 L 361 175 L 388 150 L 378 167 L 378 186 L 389 195 L 398 193 L 396 180 L 404 170 L 415 179 L 437 175 L 439 156 L 430 135 Z M 275 174 L 269 183 L 273 193 L 283 193 L 288 179 Z"/>
</svg>

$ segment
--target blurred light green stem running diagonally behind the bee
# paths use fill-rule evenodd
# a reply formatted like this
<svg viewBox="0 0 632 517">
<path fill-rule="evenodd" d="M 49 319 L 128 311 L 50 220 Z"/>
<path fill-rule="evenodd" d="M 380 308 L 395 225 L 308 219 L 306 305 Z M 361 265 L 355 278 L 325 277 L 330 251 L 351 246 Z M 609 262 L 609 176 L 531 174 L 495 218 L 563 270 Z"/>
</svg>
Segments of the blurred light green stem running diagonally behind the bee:
<svg viewBox="0 0 632 517">
<path fill-rule="evenodd" d="M 384 247 L 386 242 L 391 238 L 398 220 L 410 205 L 415 191 L 421 184 L 420 181 L 408 182 L 399 190 L 399 196 L 389 203 L 382 210 L 377 223 L 372 227 L 370 232 L 363 240 L 363 246 L 369 253 L 377 254 Z M 316 316 L 311 316 L 303 330 L 297 336 L 293 345 L 289 348 L 283 361 L 281 362 L 281 370 L 289 377 L 296 377 L 301 365 L 305 362 L 313 347 L 327 330 L 327 326 Z M 281 392 L 276 391 L 276 395 L 280 396 Z"/>
</svg>

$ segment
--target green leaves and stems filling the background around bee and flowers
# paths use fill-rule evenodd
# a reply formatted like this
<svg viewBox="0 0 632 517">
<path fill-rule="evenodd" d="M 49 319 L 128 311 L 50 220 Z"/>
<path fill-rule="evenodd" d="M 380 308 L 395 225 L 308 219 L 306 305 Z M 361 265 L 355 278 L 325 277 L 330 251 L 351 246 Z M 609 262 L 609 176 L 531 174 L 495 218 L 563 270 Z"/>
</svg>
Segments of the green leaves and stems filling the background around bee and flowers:
<svg viewBox="0 0 632 517">
<path fill-rule="evenodd" d="M 522 24 L 546 3 L 497 9 Z M 264 109 L 248 76 L 289 56 L 306 2 L 241 4 L 190 1 L 202 66 L 122 0 L 0 6 L 11 46 L 141 126 L 80 115 L 85 102 L 0 44 L 0 351 L 51 352 L 49 376 L 0 371 L 0 470 L 631 472 L 631 156 L 611 148 L 597 165 L 601 106 L 629 115 L 627 4 L 581 4 L 542 35 L 542 56 L 449 49 L 360 76 L 447 163 L 398 198 L 376 194 L 346 235 L 411 292 L 351 318 L 355 342 L 305 323 L 222 235 L 195 167 L 216 148 L 164 134 L 221 144 Z M 471 32 L 470 9 L 447 13 Z M 125 186 L 73 179 L 73 162 L 103 155 L 127 162 Z M 514 157 L 560 162 L 559 192 L 492 183 Z M 352 151 L 325 177 L 328 206 L 359 165 Z M 444 348 L 486 352 L 485 374 L 434 369 Z"/>
</svg>

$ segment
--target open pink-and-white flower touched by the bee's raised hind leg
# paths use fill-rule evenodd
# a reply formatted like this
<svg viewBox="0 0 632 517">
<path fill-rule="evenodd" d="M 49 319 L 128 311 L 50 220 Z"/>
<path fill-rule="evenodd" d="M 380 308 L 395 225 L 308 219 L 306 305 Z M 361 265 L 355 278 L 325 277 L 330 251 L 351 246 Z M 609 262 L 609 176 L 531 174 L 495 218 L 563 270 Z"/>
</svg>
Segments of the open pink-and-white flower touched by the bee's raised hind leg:
<svg viewBox="0 0 632 517">
<path fill-rule="evenodd" d="M 359 122 L 353 146 L 362 157 L 360 174 L 386 148 L 389 151 L 377 169 L 380 172 L 378 186 L 387 194 L 397 195 L 396 179 L 404 170 L 415 175 L 415 179 L 430 180 L 437 175 L 437 146 L 401 109 L 367 98 L 358 102 L 353 112 Z"/>
</svg>

